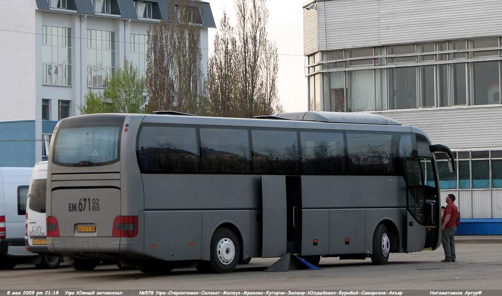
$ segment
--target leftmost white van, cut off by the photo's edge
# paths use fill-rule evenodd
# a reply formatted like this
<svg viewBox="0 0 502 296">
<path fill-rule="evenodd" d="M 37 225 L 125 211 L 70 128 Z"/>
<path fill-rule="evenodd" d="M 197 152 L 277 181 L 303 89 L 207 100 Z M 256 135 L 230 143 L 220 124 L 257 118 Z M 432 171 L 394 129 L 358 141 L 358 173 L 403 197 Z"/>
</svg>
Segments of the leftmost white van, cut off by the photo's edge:
<svg viewBox="0 0 502 296">
<path fill-rule="evenodd" d="M 0 168 L 0 269 L 31 263 L 25 246 L 26 195 L 32 168 Z"/>
</svg>

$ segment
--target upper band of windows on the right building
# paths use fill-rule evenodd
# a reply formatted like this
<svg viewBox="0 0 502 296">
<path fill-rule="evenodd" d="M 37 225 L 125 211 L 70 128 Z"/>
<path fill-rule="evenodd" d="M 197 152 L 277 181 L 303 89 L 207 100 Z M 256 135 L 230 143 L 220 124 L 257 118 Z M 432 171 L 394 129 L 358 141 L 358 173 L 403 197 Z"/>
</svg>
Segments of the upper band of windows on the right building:
<svg viewBox="0 0 502 296">
<path fill-rule="evenodd" d="M 309 109 L 499 105 L 501 40 L 490 37 L 317 52 L 307 57 Z M 317 75 L 322 75 L 319 83 Z"/>
</svg>

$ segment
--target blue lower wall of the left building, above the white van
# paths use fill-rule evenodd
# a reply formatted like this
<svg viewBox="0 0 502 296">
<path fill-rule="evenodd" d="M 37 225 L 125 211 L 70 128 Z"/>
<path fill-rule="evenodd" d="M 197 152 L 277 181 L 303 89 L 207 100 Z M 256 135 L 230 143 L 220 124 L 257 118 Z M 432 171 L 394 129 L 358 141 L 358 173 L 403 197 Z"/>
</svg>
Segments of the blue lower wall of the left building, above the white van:
<svg viewBox="0 0 502 296">
<path fill-rule="evenodd" d="M 0 122 L 0 167 L 35 166 L 36 144 L 35 120 Z"/>
</svg>

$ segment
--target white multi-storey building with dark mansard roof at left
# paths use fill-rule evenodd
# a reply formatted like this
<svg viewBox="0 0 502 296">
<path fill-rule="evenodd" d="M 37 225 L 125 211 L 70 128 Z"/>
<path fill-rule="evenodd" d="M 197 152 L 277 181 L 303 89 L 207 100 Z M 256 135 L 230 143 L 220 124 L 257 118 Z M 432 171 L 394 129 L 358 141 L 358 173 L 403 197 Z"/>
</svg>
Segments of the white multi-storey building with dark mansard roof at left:
<svg viewBox="0 0 502 296">
<path fill-rule="evenodd" d="M 0 167 L 46 160 L 58 120 L 78 115 L 88 89 L 124 58 L 146 75 L 150 26 L 170 22 L 170 0 L 5 0 L 0 11 Z M 209 3 L 193 6 L 207 73 Z"/>
</svg>

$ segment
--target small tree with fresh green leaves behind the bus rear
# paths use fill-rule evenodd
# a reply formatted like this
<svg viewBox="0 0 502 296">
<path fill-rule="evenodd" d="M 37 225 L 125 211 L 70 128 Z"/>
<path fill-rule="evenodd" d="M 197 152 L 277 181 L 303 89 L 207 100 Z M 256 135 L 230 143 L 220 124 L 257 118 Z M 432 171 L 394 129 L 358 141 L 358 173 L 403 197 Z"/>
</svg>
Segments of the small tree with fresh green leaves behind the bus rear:
<svg viewBox="0 0 502 296">
<path fill-rule="evenodd" d="M 117 68 L 115 74 L 106 78 L 104 95 L 90 89 L 85 94 L 85 102 L 79 107 L 82 114 L 91 113 L 144 113 L 143 96 L 144 81 L 139 78 L 138 69 L 127 59 L 123 67 Z"/>
</svg>

